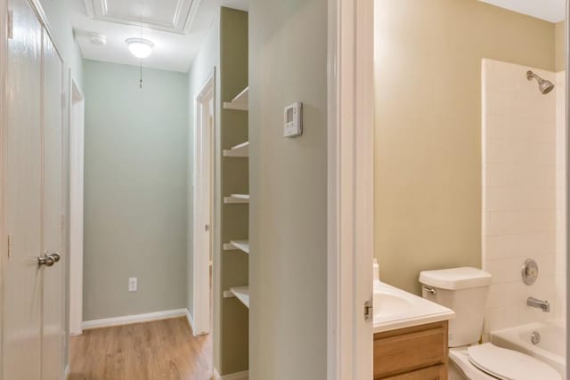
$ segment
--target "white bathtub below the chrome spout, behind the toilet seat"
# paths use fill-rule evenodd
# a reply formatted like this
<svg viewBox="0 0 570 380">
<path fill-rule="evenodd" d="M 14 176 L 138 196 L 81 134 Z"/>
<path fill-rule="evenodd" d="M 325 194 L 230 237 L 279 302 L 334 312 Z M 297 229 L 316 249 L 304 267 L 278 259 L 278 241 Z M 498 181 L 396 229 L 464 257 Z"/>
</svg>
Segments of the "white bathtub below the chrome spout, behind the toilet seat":
<svg viewBox="0 0 570 380">
<path fill-rule="evenodd" d="M 538 344 L 531 341 L 534 331 L 541 335 Z M 566 379 L 565 337 L 566 328 L 562 322 L 545 321 L 492 331 L 491 343 L 542 360 Z"/>
</svg>

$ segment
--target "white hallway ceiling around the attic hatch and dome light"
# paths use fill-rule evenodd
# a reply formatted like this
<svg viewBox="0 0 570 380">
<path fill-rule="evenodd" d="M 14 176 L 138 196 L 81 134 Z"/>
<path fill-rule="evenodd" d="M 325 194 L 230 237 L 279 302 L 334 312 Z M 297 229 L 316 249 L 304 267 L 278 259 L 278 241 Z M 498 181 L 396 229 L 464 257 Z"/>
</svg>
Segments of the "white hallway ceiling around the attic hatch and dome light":
<svg viewBox="0 0 570 380">
<path fill-rule="evenodd" d="M 248 0 L 74 0 L 72 21 L 83 57 L 138 66 L 128 51 L 130 37 L 152 41 L 145 68 L 187 72 L 216 19 L 220 5 L 248 10 Z M 142 28 L 141 28 L 142 25 Z M 107 44 L 97 46 L 89 33 L 101 33 Z"/>
</svg>

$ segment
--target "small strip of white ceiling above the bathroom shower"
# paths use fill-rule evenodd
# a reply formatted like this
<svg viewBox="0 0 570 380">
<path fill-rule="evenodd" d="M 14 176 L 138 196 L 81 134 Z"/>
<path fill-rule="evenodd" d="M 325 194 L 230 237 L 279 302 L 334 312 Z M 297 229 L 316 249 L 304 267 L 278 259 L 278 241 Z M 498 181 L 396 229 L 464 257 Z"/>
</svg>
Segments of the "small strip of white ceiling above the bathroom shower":
<svg viewBox="0 0 570 380">
<path fill-rule="evenodd" d="M 479 0 L 537 19 L 559 22 L 566 19 L 566 0 Z"/>
</svg>

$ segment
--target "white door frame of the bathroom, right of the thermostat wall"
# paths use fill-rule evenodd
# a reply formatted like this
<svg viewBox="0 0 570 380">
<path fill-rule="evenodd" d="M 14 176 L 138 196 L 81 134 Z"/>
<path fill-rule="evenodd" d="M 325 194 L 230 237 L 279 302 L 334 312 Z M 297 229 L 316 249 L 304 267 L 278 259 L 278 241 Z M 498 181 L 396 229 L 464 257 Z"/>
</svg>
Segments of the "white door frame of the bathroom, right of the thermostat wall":
<svg viewBox="0 0 570 380">
<path fill-rule="evenodd" d="M 373 11 L 329 0 L 328 380 L 372 378 Z"/>
</svg>

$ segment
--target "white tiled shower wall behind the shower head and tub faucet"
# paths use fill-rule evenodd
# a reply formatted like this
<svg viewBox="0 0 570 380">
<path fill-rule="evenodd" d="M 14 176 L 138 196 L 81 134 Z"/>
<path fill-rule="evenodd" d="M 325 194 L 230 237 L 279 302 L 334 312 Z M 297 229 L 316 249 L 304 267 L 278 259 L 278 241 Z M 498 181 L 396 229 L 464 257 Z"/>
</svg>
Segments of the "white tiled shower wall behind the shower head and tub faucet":
<svg viewBox="0 0 570 380">
<path fill-rule="evenodd" d="M 558 310 L 558 91 L 540 93 L 537 83 L 526 79 L 528 69 L 483 61 L 483 268 L 493 275 L 485 333 L 550 319 Z M 532 70 L 557 79 L 552 72 Z M 539 265 L 533 286 L 521 279 L 527 258 Z M 550 300 L 552 311 L 526 306 L 528 296 Z"/>
</svg>

